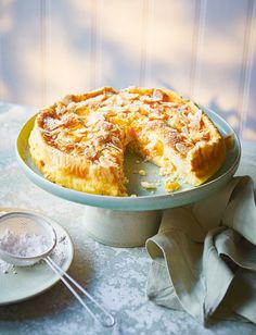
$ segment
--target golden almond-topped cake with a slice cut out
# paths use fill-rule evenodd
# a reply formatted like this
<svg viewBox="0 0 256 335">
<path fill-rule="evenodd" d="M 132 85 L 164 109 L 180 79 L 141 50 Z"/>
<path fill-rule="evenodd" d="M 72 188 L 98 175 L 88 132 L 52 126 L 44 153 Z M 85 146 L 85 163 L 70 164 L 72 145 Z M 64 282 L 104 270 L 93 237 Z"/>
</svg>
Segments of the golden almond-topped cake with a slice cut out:
<svg viewBox="0 0 256 335">
<path fill-rule="evenodd" d="M 197 106 L 169 90 L 140 87 L 66 96 L 38 113 L 29 146 L 50 181 L 111 196 L 127 196 L 127 146 L 162 174 L 175 173 L 194 186 L 226 158 L 221 135 Z"/>
</svg>

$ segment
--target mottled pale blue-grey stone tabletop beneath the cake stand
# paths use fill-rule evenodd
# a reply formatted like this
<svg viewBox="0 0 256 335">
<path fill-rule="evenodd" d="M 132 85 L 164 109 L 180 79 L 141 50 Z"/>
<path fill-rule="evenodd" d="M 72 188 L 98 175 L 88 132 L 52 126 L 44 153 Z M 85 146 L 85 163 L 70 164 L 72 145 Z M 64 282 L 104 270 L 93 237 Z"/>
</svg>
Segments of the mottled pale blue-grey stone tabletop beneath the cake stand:
<svg viewBox="0 0 256 335">
<path fill-rule="evenodd" d="M 116 317 L 116 325 L 95 324 L 62 283 L 29 300 L 0 307 L 0 334 L 256 334 L 251 323 L 220 321 L 204 328 L 185 312 L 149 301 L 151 260 L 144 248 L 112 248 L 88 237 L 85 208 L 57 198 L 30 183 L 15 159 L 21 126 L 31 108 L 0 103 L 0 207 L 39 210 L 71 235 L 75 257 L 69 274 Z M 239 174 L 256 179 L 256 144 L 244 142 Z M 1 287 L 0 287 L 1 289 Z M 255 311 L 256 312 L 256 311 Z"/>
</svg>

